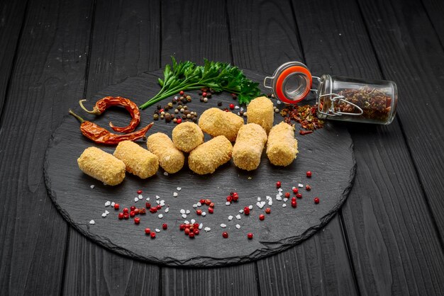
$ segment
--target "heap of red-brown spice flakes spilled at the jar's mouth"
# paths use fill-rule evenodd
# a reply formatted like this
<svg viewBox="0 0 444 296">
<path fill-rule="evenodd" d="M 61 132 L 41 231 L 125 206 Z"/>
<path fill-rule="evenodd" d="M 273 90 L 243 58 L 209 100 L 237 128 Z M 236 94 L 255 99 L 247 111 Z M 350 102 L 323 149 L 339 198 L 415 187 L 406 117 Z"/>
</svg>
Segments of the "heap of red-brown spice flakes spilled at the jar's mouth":
<svg viewBox="0 0 444 296">
<path fill-rule="evenodd" d="M 281 110 L 281 115 L 284 117 L 284 122 L 291 124 L 292 120 L 299 123 L 305 130 L 300 130 L 299 134 L 306 135 L 311 134 L 313 130 L 318 130 L 323 127 L 323 120 L 318 118 L 316 110 L 318 105 L 310 106 L 298 106 L 286 104 L 285 108 Z"/>
</svg>

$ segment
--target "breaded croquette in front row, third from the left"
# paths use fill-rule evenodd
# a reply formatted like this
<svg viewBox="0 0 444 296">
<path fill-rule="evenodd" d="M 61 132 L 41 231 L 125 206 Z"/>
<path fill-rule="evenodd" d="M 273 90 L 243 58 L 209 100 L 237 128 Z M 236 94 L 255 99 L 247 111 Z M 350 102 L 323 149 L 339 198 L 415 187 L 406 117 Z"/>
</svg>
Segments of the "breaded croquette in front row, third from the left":
<svg viewBox="0 0 444 296">
<path fill-rule="evenodd" d="M 184 166 L 185 156 L 167 135 L 156 132 L 147 139 L 147 147 L 159 159 L 159 165 L 167 173 L 177 173 Z"/>
</svg>

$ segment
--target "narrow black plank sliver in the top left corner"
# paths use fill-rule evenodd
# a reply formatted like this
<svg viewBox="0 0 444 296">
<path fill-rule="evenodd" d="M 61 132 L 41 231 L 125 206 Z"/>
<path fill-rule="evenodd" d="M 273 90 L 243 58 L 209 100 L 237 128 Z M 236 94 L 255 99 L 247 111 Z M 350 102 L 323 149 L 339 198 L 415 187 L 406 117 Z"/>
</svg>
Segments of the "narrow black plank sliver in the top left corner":
<svg viewBox="0 0 444 296">
<path fill-rule="evenodd" d="M 3 1 L 0 4 L 0 119 L 6 97 L 6 86 L 16 53 L 18 38 L 21 35 L 26 14 L 27 0 Z"/>
</svg>

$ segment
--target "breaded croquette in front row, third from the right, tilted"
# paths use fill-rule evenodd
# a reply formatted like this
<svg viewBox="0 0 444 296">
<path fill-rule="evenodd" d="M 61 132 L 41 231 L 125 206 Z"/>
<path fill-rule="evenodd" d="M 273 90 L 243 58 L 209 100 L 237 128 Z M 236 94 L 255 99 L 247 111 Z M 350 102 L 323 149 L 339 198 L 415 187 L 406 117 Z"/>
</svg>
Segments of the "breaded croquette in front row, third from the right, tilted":
<svg viewBox="0 0 444 296">
<path fill-rule="evenodd" d="M 188 156 L 189 169 L 199 175 L 213 173 L 218 166 L 230 161 L 233 146 L 225 136 L 217 136 L 192 150 Z"/>
</svg>

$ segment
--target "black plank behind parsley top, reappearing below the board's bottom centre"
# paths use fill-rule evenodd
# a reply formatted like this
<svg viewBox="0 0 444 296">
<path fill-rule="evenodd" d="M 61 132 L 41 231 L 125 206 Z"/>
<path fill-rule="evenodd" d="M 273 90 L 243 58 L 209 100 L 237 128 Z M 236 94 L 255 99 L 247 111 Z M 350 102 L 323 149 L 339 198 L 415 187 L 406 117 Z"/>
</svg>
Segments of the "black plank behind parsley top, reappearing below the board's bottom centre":
<svg viewBox="0 0 444 296">
<path fill-rule="evenodd" d="M 177 59 L 199 64 L 204 58 L 231 62 L 225 11 L 224 1 L 162 1 L 162 65 L 170 63 L 174 54 Z M 255 264 L 209 269 L 162 268 L 162 291 L 167 295 L 254 295 L 257 294 Z"/>
</svg>

